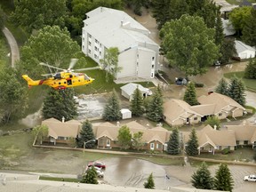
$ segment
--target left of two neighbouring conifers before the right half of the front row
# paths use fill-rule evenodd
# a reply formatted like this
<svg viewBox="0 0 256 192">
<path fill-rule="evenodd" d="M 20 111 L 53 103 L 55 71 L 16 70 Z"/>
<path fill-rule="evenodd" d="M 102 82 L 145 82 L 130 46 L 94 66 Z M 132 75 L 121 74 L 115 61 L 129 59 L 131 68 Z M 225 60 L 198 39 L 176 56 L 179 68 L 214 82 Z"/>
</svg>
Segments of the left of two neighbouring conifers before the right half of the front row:
<svg viewBox="0 0 256 192">
<path fill-rule="evenodd" d="M 171 155 L 180 154 L 180 133 L 177 127 L 172 131 L 167 143 L 167 153 Z"/>
</svg>

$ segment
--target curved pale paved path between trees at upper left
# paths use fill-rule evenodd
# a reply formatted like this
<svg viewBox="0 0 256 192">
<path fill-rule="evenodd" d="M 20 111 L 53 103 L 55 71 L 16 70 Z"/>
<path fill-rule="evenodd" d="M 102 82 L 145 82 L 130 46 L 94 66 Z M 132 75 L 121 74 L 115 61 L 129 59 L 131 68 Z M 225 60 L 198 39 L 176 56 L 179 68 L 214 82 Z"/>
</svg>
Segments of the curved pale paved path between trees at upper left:
<svg viewBox="0 0 256 192">
<path fill-rule="evenodd" d="M 20 60 L 20 51 L 19 51 L 18 44 L 8 28 L 4 28 L 3 33 L 4 33 L 4 36 L 6 37 L 8 44 L 11 48 L 12 68 L 15 68 L 15 62 Z"/>
</svg>

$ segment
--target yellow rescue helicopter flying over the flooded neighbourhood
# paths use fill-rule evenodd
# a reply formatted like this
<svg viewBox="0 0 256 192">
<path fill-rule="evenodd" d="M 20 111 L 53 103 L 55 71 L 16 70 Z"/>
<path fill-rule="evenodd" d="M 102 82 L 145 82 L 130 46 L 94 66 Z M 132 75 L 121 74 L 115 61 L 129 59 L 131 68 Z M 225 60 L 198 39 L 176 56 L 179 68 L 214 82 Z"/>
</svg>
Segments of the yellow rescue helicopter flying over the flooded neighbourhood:
<svg viewBox="0 0 256 192">
<path fill-rule="evenodd" d="M 28 87 L 37 86 L 41 84 L 46 84 L 51 86 L 54 89 L 66 89 L 68 87 L 80 86 L 85 84 L 92 84 L 94 81 L 93 78 L 87 76 L 84 73 L 76 73 L 74 71 L 84 71 L 84 70 L 92 70 L 100 67 L 94 68 L 80 68 L 80 69 L 72 69 L 77 62 L 77 59 L 71 59 L 68 69 L 62 69 L 53 67 L 51 65 L 40 63 L 40 65 L 46 66 L 50 69 L 55 68 L 60 70 L 60 72 L 54 74 L 44 74 L 42 76 L 51 76 L 41 80 L 33 80 L 28 75 L 23 75 L 22 77 L 28 82 Z M 51 71 L 52 72 L 52 71 Z"/>
</svg>

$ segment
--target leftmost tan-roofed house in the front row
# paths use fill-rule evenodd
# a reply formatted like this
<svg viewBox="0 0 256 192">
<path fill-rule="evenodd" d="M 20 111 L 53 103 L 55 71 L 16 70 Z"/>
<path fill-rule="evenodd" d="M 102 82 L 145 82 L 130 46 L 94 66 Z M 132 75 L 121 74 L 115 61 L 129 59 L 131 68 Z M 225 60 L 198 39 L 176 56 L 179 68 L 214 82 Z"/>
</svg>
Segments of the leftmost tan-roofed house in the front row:
<svg viewBox="0 0 256 192">
<path fill-rule="evenodd" d="M 42 121 L 42 124 L 49 128 L 47 141 L 56 145 L 56 143 L 68 143 L 69 138 L 76 138 L 79 135 L 81 123 L 76 120 L 60 122 L 55 118 Z"/>
</svg>

